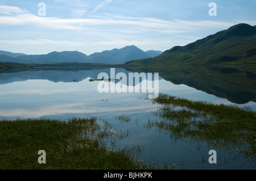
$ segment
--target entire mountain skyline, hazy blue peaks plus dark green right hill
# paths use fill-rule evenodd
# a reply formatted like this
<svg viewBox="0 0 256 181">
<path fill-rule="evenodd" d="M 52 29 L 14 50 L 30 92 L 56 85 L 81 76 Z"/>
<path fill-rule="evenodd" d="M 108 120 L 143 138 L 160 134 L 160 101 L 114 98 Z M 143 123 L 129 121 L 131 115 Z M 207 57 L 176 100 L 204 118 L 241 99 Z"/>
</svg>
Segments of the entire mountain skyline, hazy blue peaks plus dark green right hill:
<svg viewBox="0 0 256 181">
<path fill-rule="evenodd" d="M 241 23 L 209 35 L 183 47 L 175 46 L 165 52 L 144 52 L 134 45 L 121 49 L 105 50 L 87 56 L 84 53 L 51 52 L 26 55 L 0 51 L 0 62 L 20 64 L 122 64 L 125 66 L 168 66 L 168 65 L 255 65 L 256 26 Z"/>
</svg>

